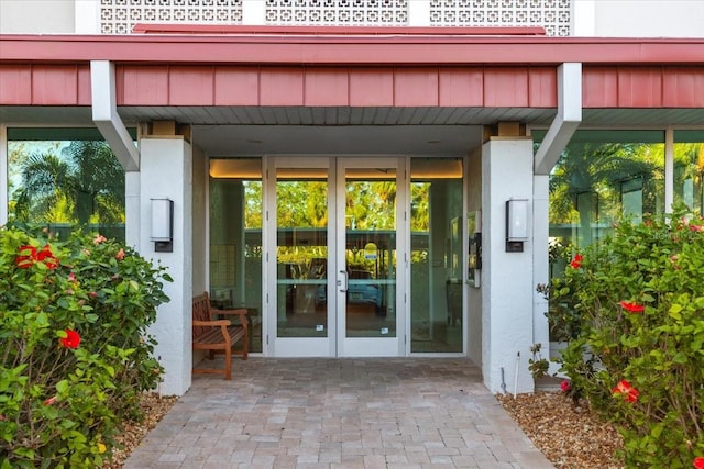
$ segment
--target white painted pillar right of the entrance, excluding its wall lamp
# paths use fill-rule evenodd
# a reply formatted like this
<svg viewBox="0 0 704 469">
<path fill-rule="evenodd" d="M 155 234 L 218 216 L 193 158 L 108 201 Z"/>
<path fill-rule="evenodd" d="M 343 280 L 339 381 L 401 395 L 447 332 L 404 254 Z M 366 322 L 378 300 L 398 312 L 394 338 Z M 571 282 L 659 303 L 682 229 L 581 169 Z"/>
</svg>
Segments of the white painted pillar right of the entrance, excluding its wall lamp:
<svg viewBox="0 0 704 469">
<path fill-rule="evenodd" d="M 482 148 L 482 372 L 492 392 L 502 392 L 502 368 L 506 392 L 534 390 L 528 371 L 536 288 L 530 213 L 522 253 L 506 252 L 506 201 L 527 199 L 532 206 L 532 166 L 530 138 L 493 137 Z"/>
</svg>

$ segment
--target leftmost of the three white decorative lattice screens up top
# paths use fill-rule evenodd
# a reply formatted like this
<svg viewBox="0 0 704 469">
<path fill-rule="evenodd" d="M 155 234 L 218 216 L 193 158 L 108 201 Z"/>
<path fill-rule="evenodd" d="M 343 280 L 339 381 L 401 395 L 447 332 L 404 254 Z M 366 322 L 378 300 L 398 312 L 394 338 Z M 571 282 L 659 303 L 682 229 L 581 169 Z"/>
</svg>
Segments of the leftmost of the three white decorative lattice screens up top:
<svg viewBox="0 0 704 469">
<path fill-rule="evenodd" d="M 100 0 L 102 34 L 130 34 L 136 23 L 240 24 L 242 0 Z"/>
</svg>

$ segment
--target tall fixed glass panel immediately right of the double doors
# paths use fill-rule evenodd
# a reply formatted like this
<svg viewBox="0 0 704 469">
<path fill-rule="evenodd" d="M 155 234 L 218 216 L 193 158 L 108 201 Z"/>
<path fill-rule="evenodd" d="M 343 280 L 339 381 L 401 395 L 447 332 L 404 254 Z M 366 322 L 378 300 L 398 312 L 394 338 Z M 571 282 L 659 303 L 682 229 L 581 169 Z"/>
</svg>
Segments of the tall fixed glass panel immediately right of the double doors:
<svg viewBox="0 0 704 469">
<path fill-rule="evenodd" d="M 461 353 L 462 160 L 414 158 L 410 177 L 410 351 Z"/>
</svg>

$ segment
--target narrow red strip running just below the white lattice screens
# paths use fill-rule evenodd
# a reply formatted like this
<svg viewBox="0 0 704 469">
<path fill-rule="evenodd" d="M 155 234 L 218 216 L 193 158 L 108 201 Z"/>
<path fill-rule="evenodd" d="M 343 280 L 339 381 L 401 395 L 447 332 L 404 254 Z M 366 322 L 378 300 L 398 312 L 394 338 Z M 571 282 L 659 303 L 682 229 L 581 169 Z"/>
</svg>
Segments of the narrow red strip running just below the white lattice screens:
<svg viewBox="0 0 704 469">
<path fill-rule="evenodd" d="M 542 26 L 465 26 L 465 27 L 409 27 L 409 26 L 248 26 L 232 24 L 154 24 L 138 23 L 132 29 L 138 34 L 228 34 L 228 35 L 326 35 L 326 36 L 378 36 L 378 35 L 431 35 L 431 36 L 544 36 Z"/>
</svg>

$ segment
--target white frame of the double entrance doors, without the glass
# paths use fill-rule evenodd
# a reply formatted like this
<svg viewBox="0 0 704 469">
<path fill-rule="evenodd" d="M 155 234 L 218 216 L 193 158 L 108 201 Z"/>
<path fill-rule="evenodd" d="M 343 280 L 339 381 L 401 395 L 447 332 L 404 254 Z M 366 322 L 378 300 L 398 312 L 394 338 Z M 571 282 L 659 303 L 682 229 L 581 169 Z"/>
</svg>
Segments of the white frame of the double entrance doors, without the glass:
<svg viewBox="0 0 704 469">
<path fill-rule="evenodd" d="M 264 249 L 264 316 L 263 351 L 273 357 L 381 357 L 406 356 L 406 327 L 409 321 L 406 294 L 408 276 L 407 234 L 409 223 L 406 216 L 407 205 L 407 171 L 405 157 L 396 156 L 363 156 L 349 157 L 330 156 L 265 156 L 263 186 L 263 232 Z M 370 167 L 370 163 L 380 163 L 388 167 L 396 167 L 396 337 L 388 338 L 348 338 L 345 337 L 344 305 L 337 308 L 344 301 L 344 293 L 340 292 L 338 282 L 341 261 L 344 261 L 345 231 L 344 206 L 345 183 L 344 168 Z M 327 169 L 328 171 L 328 334 L 326 337 L 277 337 L 277 227 L 276 227 L 276 170 L 282 167 Z M 338 185 L 338 181 L 342 183 Z M 338 213 L 341 215 L 338 216 Z M 331 243 L 334 241 L 334 243 Z M 334 275 L 332 275 L 334 273 Z M 333 295 L 332 292 L 336 294 Z M 330 301 L 334 299 L 334 301 Z M 342 311 L 340 311 L 342 310 Z"/>
</svg>

